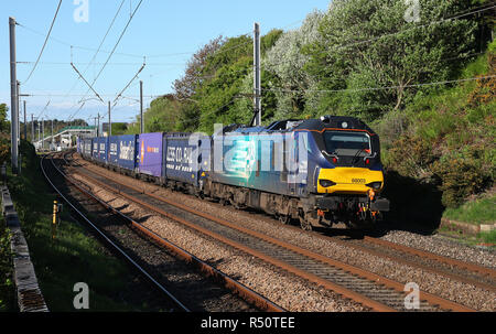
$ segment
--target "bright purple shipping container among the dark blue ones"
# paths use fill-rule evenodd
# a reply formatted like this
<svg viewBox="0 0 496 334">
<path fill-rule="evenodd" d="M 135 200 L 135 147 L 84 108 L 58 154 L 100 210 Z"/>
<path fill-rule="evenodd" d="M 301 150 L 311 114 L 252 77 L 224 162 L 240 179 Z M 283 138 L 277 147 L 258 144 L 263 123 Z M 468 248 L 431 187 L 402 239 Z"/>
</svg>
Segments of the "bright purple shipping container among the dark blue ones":
<svg viewBox="0 0 496 334">
<path fill-rule="evenodd" d="M 141 174 L 162 177 L 163 133 L 142 133 L 138 136 L 138 170 Z"/>
</svg>

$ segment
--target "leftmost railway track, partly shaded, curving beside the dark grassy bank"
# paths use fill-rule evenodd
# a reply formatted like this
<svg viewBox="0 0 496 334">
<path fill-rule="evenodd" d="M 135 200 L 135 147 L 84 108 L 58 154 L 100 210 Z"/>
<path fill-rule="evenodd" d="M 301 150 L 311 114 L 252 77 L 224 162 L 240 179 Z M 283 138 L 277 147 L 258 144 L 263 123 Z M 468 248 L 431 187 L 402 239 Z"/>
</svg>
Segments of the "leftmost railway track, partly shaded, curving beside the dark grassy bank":
<svg viewBox="0 0 496 334">
<path fill-rule="evenodd" d="M 191 265 L 190 266 L 190 265 L 181 263 L 177 266 L 177 262 L 182 262 L 182 261 L 175 259 L 175 257 L 172 257 L 172 256 L 168 257 L 169 258 L 168 260 L 170 262 L 172 262 L 172 265 L 166 263 L 169 267 L 163 268 L 162 270 L 172 271 L 172 272 L 174 272 L 174 271 L 183 272 L 182 274 L 190 277 L 190 281 L 193 282 L 193 283 L 187 283 L 185 287 L 182 287 L 182 291 L 181 291 L 181 289 L 175 289 L 175 290 L 179 290 L 179 292 L 174 292 L 174 293 L 171 292 L 170 291 L 171 289 L 168 290 L 168 288 L 163 283 L 160 282 L 160 281 L 164 280 L 164 278 L 161 277 L 160 273 L 153 272 L 153 270 L 152 271 L 148 270 L 147 268 L 144 268 L 147 266 L 141 266 L 138 263 L 140 261 L 139 259 L 136 259 L 134 257 L 128 255 L 128 252 L 138 254 L 143 248 L 148 247 L 148 248 L 151 248 L 151 250 L 144 250 L 143 252 L 152 254 L 153 258 L 155 259 L 155 262 L 157 262 L 157 258 L 159 258 L 160 256 L 158 255 L 155 245 L 151 245 L 149 239 L 144 240 L 143 238 L 138 237 L 136 235 L 136 230 L 134 230 L 129 234 L 126 234 L 126 236 L 123 238 L 129 241 L 128 245 L 125 245 L 125 247 L 119 246 L 119 245 L 117 245 L 118 243 L 112 240 L 112 236 L 108 235 L 108 231 L 104 231 L 103 228 L 99 228 L 97 226 L 97 224 L 89 222 L 89 219 L 87 219 L 85 217 L 84 213 L 82 213 L 79 209 L 77 209 L 73 204 L 71 204 L 71 202 L 67 202 L 77 212 L 77 214 L 87 224 L 89 224 L 89 226 L 91 226 L 93 229 L 95 229 L 97 231 L 97 234 L 99 236 L 101 236 L 114 249 L 116 249 L 120 255 L 122 255 L 134 268 L 137 268 L 137 270 L 139 272 L 141 272 L 144 277 L 147 277 L 149 279 L 149 281 L 152 282 L 152 284 L 159 291 L 164 293 L 165 297 L 174 303 L 175 308 L 173 310 L 186 311 L 186 312 L 190 310 L 192 310 L 192 311 L 260 311 L 260 310 L 262 310 L 262 311 L 263 310 L 283 311 L 281 308 L 279 308 L 276 304 L 271 303 L 270 301 L 263 299 L 262 297 L 260 297 L 257 293 L 252 292 L 251 290 L 247 289 L 242 284 L 224 276 L 223 273 L 218 272 L 211 266 L 198 260 L 197 258 L 195 258 L 187 251 L 176 247 L 175 245 L 173 245 L 171 243 L 168 243 L 166 240 L 154 235 L 152 231 L 142 227 L 137 222 L 122 215 L 120 212 L 109 207 L 105 202 L 98 200 L 96 196 L 90 194 L 90 192 L 88 192 L 87 186 L 76 182 L 74 179 L 66 175 L 60 168 L 56 166 L 53 159 L 51 159 L 51 162 L 52 162 L 53 170 L 56 170 L 57 173 L 67 181 L 67 185 L 69 185 L 71 187 L 77 188 L 79 194 L 84 195 L 84 197 L 90 198 L 90 201 L 97 203 L 99 206 L 101 206 L 106 211 L 110 212 L 114 215 L 114 218 L 119 220 L 119 223 L 117 223 L 117 224 L 122 225 L 122 222 L 126 222 L 126 224 L 136 228 L 141 235 L 144 235 L 149 239 L 153 240 L 155 244 L 159 244 L 160 248 L 163 249 L 163 247 L 166 247 L 166 249 L 169 249 L 175 256 L 184 259 L 185 261 L 187 261 Z M 51 180 L 52 177 L 48 176 L 50 172 L 46 171 L 46 164 L 47 164 L 47 161 L 44 159 L 42 161 L 42 170 L 43 170 L 43 173 L 45 174 L 45 177 L 48 180 L 48 182 L 52 184 L 52 186 L 57 191 L 57 193 L 65 201 L 69 201 L 62 194 L 62 192 L 52 182 L 52 180 Z M 106 219 L 106 220 L 108 220 L 108 219 Z M 98 225 L 100 226 L 100 225 L 105 225 L 105 224 L 103 224 L 100 222 Z M 109 225 L 116 225 L 116 222 L 112 222 Z M 122 234 L 121 228 L 118 229 L 118 234 L 119 235 Z M 133 249 L 129 249 L 131 244 L 134 247 Z M 137 244 L 141 244 L 141 245 L 137 245 Z M 127 251 L 123 250 L 122 248 L 127 248 Z M 162 262 L 154 263 L 154 265 L 155 266 L 160 265 L 160 267 L 164 267 L 164 263 L 162 263 Z M 185 270 L 183 267 L 187 267 L 187 269 Z M 197 274 L 195 276 L 195 274 L 192 274 L 191 272 L 186 272 L 186 271 L 195 271 L 195 270 L 201 270 L 202 272 L 204 272 L 205 277 L 203 278 L 200 276 L 200 278 L 198 278 L 198 277 L 196 277 Z M 217 283 L 215 283 L 211 278 L 213 278 Z M 175 282 L 175 283 L 184 284 L 184 282 Z M 225 287 L 225 289 L 219 289 L 219 284 L 223 284 Z M 231 297 L 226 298 L 226 291 L 228 294 L 231 294 Z M 235 293 L 233 294 L 231 291 L 235 291 Z M 177 294 L 183 294 L 183 295 L 181 295 L 181 298 L 177 298 L 176 297 Z M 184 297 L 184 294 L 186 294 L 186 297 Z M 239 299 L 238 295 L 241 295 L 248 302 Z M 223 302 L 212 302 L 212 300 L 215 300 L 215 299 L 219 299 L 219 300 L 223 299 L 224 301 Z M 209 303 L 209 304 L 205 306 L 203 303 Z M 187 306 L 185 304 L 187 304 Z M 228 304 L 229 306 L 225 306 L 225 304 Z M 190 306 L 190 305 L 192 305 L 192 306 Z M 251 305 L 255 305 L 255 308 Z"/>
</svg>

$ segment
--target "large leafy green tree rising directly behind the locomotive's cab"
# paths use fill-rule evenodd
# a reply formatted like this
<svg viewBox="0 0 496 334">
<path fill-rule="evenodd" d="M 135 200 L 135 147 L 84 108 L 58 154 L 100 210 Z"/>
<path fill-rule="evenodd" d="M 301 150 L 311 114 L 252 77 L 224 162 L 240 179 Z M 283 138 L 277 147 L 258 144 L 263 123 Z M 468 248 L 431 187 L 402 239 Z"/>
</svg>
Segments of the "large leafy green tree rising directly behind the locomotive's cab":
<svg viewBox="0 0 496 334">
<path fill-rule="evenodd" d="M 311 57 L 305 69 L 317 87 L 343 90 L 321 94 L 322 111 L 337 109 L 371 120 L 401 109 L 427 89 L 409 85 L 451 78 L 457 66 L 450 58 L 474 52 L 474 18 L 445 20 L 467 12 L 470 1 L 421 0 L 420 22 L 407 22 L 408 6 L 397 0 L 332 2 L 319 39 L 304 49 Z"/>
</svg>

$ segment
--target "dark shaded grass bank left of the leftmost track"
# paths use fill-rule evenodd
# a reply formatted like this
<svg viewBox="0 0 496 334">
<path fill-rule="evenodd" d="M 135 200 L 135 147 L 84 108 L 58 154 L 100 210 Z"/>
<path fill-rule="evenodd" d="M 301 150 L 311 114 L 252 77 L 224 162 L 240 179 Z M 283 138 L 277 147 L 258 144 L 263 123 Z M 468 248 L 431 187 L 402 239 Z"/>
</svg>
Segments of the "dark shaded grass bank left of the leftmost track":
<svg viewBox="0 0 496 334">
<path fill-rule="evenodd" d="M 40 158 L 22 143 L 23 173 L 9 175 L 9 188 L 26 237 L 40 288 L 51 311 L 77 311 L 73 306 L 74 284 L 89 287 L 89 311 L 147 310 L 130 305 L 120 295 L 129 290 L 129 268 L 109 255 L 87 231 L 74 223 L 66 209 L 56 239 L 52 239 L 54 194 L 45 183 Z"/>
</svg>

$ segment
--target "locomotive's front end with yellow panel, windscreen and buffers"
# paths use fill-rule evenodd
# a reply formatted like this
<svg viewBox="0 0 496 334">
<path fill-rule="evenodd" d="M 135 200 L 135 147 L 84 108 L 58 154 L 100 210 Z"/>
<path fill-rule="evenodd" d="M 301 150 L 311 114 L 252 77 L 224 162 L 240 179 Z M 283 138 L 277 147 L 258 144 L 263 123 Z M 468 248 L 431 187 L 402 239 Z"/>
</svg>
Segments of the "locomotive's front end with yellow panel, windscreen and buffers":
<svg viewBox="0 0 496 334">
<path fill-rule="evenodd" d="M 304 127 L 312 133 L 317 153 L 313 155 L 309 196 L 313 211 L 303 227 L 337 222 L 364 227 L 381 219 L 389 211 L 389 201 L 380 197 L 384 172 L 378 134 L 352 117 L 324 116 Z"/>
</svg>

